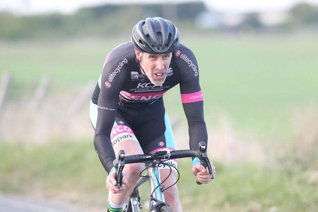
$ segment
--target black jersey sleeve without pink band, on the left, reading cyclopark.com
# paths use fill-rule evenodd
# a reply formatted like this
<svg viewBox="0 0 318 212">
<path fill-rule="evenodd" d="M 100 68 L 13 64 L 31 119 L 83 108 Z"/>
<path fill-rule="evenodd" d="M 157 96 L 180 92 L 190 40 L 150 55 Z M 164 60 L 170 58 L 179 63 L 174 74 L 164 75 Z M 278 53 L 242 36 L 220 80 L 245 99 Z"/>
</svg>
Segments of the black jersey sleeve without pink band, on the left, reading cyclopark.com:
<svg viewBox="0 0 318 212">
<path fill-rule="evenodd" d="M 118 96 L 125 79 L 125 72 L 118 69 L 118 61 L 120 59 L 112 59 L 111 56 L 107 55 L 99 80 L 100 94 L 97 102 L 98 115 L 94 135 L 94 147 L 107 173 L 113 168 L 113 161 L 115 159 L 110 133 L 117 113 Z"/>
</svg>

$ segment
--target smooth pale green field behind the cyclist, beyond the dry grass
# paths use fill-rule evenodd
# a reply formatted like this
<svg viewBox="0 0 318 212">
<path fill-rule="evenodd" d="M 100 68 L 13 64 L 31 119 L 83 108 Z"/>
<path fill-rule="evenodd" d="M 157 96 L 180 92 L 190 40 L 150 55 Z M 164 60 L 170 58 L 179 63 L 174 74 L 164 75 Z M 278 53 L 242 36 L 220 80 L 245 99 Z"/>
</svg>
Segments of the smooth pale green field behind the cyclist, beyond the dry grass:
<svg viewBox="0 0 318 212">
<path fill-rule="evenodd" d="M 0 72 L 13 74 L 17 95 L 34 88 L 44 74 L 53 77 L 53 88 L 95 82 L 107 53 L 124 41 L 0 43 Z M 225 113 L 237 128 L 286 135 L 291 108 L 318 100 L 316 37 L 188 38 L 183 43 L 198 60 L 208 123 Z M 165 96 L 173 115 L 183 114 L 178 89 Z"/>
</svg>

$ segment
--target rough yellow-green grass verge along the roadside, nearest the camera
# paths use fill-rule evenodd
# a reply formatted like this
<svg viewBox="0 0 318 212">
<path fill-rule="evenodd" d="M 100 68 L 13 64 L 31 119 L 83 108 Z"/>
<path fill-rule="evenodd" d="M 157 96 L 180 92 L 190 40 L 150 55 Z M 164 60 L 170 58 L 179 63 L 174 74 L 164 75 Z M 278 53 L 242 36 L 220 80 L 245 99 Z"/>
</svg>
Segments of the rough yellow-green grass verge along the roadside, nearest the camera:
<svg viewBox="0 0 318 212">
<path fill-rule="evenodd" d="M 0 190 L 9 193 L 58 196 L 82 206 L 105 207 L 106 173 L 92 142 L 52 142 L 28 147 L 0 143 Z M 178 182 L 185 211 L 316 211 L 317 185 L 300 170 L 249 163 L 225 166 L 216 162 L 212 183 L 198 186 L 191 174 L 191 161 L 180 159 Z M 185 186 L 186 185 L 186 186 Z M 142 203 L 149 198 L 148 183 L 140 190 Z"/>
</svg>

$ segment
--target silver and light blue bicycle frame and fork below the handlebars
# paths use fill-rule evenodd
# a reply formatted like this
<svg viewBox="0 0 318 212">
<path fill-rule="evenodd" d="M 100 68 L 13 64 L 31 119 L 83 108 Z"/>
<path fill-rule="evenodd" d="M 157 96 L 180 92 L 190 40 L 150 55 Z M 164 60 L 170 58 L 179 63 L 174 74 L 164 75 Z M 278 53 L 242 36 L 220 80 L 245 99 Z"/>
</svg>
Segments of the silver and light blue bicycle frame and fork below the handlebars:
<svg viewBox="0 0 318 212">
<path fill-rule="evenodd" d="M 139 212 L 138 187 L 147 181 L 149 181 L 151 192 L 155 190 L 155 188 L 157 187 L 156 190 L 153 192 L 153 197 L 159 200 L 160 202 L 164 202 L 164 196 L 161 191 L 161 187 L 159 186 L 159 183 L 161 183 L 159 168 L 157 166 L 152 166 L 152 165 L 153 164 L 150 163 L 147 169 L 148 177 L 139 178 L 134 188 L 134 191 L 129 196 L 129 200 L 130 200 L 130 204 L 131 204 L 133 212 Z M 157 181 L 157 179 L 159 182 Z M 151 212 L 151 207 L 154 206 L 155 204 L 156 202 L 154 200 L 151 200 L 151 199 L 149 200 L 149 212 Z"/>
</svg>

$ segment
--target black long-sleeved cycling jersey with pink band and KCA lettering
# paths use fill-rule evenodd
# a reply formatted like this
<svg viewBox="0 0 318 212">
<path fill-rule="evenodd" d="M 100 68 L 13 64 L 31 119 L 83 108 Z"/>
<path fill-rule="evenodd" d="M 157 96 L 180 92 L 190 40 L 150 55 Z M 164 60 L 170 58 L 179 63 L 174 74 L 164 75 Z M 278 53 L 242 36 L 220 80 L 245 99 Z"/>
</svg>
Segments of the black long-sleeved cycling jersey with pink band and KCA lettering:
<svg viewBox="0 0 318 212">
<path fill-rule="evenodd" d="M 92 95 L 92 103 L 98 108 L 96 126 L 92 123 L 95 128 L 94 146 L 108 173 L 115 159 L 110 134 L 117 109 L 149 108 L 152 104 L 163 104 L 162 96 L 177 84 L 180 84 L 183 109 L 188 120 L 190 149 L 198 149 L 200 141 L 207 143 L 203 94 L 197 60 L 192 51 L 181 44 L 178 50 L 172 52 L 167 77 L 162 85 L 153 85 L 142 76 L 131 42 L 123 43 L 108 53 Z"/>
</svg>

